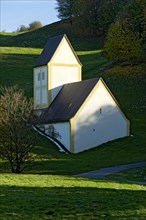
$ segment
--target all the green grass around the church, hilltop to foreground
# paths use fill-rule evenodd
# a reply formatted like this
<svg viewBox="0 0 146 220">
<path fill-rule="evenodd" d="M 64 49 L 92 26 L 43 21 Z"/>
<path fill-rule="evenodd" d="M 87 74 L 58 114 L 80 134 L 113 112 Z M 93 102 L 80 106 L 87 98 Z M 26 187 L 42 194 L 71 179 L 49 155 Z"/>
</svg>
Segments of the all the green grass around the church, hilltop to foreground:
<svg viewBox="0 0 146 220">
<path fill-rule="evenodd" d="M 19 35 L 1 33 L 1 85 L 18 84 L 32 97 L 32 67 L 47 39 L 60 33 L 60 23 Z M 60 153 L 41 137 L 32 152 L 34 161 L 21 175 L 11 174 L 1 159 L 0 219 L 145 219 L 146 187 L 71 175 L 145 161 L 146 64 L 112 66 L 102 56 L 101 39 L 68 35 L 83 64 L 83 79 L 105 80 L 131 122 L 132 135 L 77 155 Z"/>
</svg>

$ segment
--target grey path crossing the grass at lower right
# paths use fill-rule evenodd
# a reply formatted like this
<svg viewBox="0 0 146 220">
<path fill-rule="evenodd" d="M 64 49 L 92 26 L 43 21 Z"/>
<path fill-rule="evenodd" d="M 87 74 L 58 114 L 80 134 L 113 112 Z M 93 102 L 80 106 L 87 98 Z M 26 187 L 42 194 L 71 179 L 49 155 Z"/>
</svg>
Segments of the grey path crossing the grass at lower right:
<svg viewBox="0 0 146 220">
<path fill-rule="evenodd" d="M 104 179 L 108 175 L 113 174 L 113 173 L 121 172 L 121 171 L 124 171 L 124 170 L 129 170 L 131 168 L 144 167 L 144 166 L 146 166 L 146 162 L 133 163 L 133 164 L 120 165 L 120 166 L 109 167 L 109 168 L 102 168 L 102 169 L 90 171 L 90 172 L 87 172 L 87 173 L 80 173 L 80 174 L 77 174 L 75 176 L 87 177 L 87 178 L 93 178 L 93 179 L 94 178 L 95 179 L 96 178 L 97 179 L 98 178 L 99 179 Z M 136 182 L 136 183 L 140 183 L 140 182 Z M 143 182 L 142 184 L 146 184 L 146 182 Z"/>
</svg>

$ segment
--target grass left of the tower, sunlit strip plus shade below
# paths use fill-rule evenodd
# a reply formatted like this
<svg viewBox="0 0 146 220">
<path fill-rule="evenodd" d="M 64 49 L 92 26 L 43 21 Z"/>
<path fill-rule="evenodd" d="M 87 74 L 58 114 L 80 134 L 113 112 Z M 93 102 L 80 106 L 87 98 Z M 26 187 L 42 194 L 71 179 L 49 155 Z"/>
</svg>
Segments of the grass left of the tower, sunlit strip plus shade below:
<svg viewBox="0 0 146 220">
<path fill-rule="evenodd" d="M 3 86 L 19 85 L 25 95 L 33 95 L 33 70 L 40 49 L 1 47 L 0 83 Z"/>
</svg>

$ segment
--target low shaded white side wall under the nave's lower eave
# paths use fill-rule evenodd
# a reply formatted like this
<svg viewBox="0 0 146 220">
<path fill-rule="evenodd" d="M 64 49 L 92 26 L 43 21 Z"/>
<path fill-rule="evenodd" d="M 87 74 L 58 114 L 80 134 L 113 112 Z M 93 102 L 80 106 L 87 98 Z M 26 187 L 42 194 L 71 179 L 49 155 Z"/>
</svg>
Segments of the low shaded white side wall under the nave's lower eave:
<svg viewBox="0 0 146 220">
<path fill-rule="evenodd" d="M 59 134 L 56 139 L 61 142 L 67 150 L 70 151 L 70 124 L 68 122 L 63 122 L 43 126 L 47 129 L 50 125 L 53 125 L 55 132 Z"/>
</svg>

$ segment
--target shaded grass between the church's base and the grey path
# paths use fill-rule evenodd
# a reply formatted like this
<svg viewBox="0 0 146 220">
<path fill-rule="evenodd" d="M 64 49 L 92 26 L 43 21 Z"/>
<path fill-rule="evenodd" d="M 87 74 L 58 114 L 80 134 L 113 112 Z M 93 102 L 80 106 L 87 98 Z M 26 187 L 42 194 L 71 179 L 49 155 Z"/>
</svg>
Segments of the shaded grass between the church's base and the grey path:
<svg viewBox="0 0 146 220">
<path fill-rule="evenodd" d="M 34 160 L 24 173 L 74 175 L 115 165 L 145 161 L 145 147 L 134 137 L 112 141 L 76 155 L 60 153 L 47 139 L 33 149 Z M 127 150 L 128 149 L 128 150 Z M 111 155 L 111 156 L 109 156 Z M 10 172 L 6 161 L 0 162 L 0 172 Z"/>
</svg>

